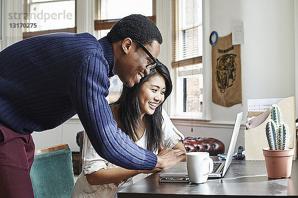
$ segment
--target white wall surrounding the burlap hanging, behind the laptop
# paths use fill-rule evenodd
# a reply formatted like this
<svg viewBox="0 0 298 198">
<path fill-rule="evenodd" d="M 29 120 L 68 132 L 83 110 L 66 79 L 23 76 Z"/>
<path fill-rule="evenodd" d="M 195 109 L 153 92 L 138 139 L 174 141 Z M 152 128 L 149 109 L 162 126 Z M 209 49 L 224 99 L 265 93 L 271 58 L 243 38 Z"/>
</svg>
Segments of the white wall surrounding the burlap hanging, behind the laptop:
<svg viewBox="0 0 298 198">
<path fill-rule="evenodd" d="M 210 33 L 215 30 L 223 37 L 231 33 L 232 22 L 244 22 L 242 104 L 223 107 L 211 102 L 210 122 L 173 122 L 186 136 L 214 137 L 227 149 L 236 113 L 243 111 L 246 120 L 247 99 L 295 96 L 295 6 L 294 0 L 209 0 L 209 4 Z M 242 125 L 237 145 L 244 146 L 243 129 Z"/>
</svg>

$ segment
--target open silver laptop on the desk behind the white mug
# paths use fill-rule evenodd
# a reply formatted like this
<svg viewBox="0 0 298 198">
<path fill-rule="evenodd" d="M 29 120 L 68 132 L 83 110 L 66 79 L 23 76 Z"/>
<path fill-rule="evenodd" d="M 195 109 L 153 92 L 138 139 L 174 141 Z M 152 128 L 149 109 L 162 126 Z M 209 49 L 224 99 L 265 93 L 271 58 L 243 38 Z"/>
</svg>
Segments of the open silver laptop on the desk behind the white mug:
<svg viewBox="0 0 298 198">
<path fill-rule="evenodd" d="M 233 128 L 233 133 L 232 133 L 232 137 L 228 147 L 225 161 L 214 161 L 213 162 L 214 168 L 212 173 L 209 174 L 209 177 L 217 177 L 217 178 L 224 177 L 224 174 L 232 161 L 233 152 L 236 146 L 236 141 L 240 130 L 242 116 L 243 116 L 243 112 L 237 113 L 234 128 Z M 179 162 L 175 166 L 161 171 L 160 173 L 158 173 L 158 176 L 159 177 L 188 177 L 186 162 Z"/>
</svg>

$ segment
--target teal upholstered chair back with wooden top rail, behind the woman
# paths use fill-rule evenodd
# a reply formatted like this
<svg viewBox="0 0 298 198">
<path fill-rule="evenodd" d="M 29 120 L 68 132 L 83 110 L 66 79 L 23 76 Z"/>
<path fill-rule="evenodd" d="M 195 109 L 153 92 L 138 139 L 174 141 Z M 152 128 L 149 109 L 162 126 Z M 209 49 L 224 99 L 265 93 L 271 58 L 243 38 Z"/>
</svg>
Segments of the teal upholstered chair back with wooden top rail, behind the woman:
<svg viewBox="0 0 298 198">
<path fill-rule="evenodd" d="M 70 198 L 74 172 L 69 145 L 36 149 L 30 176 L 35 198 Z"/>
</svg>

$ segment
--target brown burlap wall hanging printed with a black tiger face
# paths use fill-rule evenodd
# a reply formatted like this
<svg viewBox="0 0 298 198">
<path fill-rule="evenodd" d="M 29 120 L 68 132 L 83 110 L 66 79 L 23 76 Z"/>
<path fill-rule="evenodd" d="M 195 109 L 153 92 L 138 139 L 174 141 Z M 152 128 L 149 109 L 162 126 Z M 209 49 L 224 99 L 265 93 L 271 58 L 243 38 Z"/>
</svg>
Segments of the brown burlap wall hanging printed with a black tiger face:
<svg viewBox="0 0 298 198">
<path fill-rule="evenodd" d="M 232 45 L 232 34 L 212 46 L 212 101 L 222 106 L 242 102 L 240 45 Z"/>
</svg>

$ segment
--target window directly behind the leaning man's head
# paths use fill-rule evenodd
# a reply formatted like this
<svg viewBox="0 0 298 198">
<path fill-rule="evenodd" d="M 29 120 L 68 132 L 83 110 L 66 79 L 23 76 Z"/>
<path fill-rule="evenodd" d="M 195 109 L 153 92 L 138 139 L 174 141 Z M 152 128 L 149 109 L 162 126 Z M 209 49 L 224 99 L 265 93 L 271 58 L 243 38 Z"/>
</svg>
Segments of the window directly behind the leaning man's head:
<svg viewBox="0 0 298 198">
<path fill-rule="evenodd" d="M 121 18 L 130 14 L 148 16 L 155 23 L 155 0 L 95 0 L 94 29 L 97 38 L 105 37 L 112 26 Z M 110 79 L 109 103 L 120 96 L 123 83 L 117 75 Z"/>
</svg>

